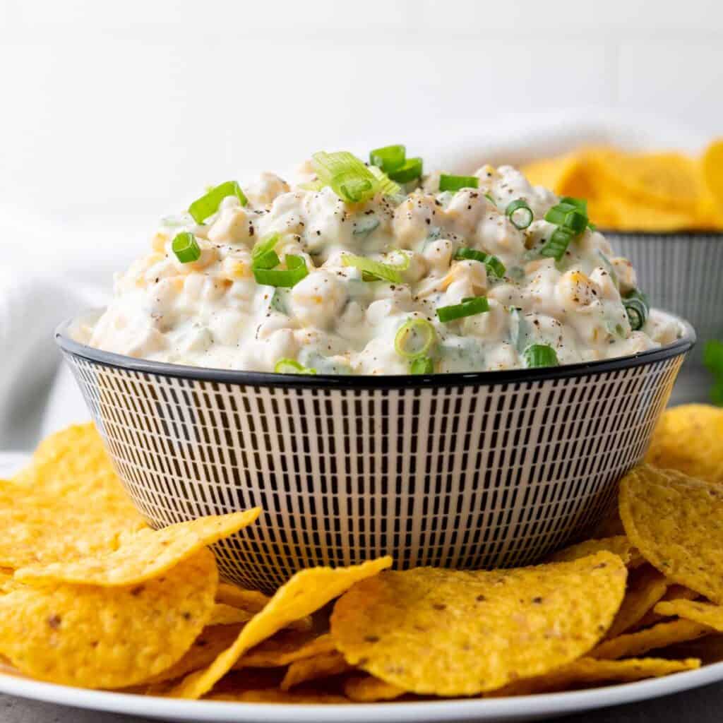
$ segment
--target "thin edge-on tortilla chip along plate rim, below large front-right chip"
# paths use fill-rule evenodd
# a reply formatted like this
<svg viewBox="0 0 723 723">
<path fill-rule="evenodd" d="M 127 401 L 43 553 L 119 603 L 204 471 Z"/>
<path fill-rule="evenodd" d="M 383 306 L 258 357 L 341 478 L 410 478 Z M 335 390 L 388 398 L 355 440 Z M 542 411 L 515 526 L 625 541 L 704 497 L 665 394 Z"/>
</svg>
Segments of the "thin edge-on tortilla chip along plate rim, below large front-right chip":
<svg viewBox="0 0 723 723">
<path fill-rule="evenodd" d="M 667 660 L 662 658 L 631 658 L 628 660 L 596 660 L 581 658 L 565 667 L 541 675 L 518 680 L 495 690 L 489 696 L 529 696 L 535 693 L 551 693 L 567 690 L 573 686 L 590 683 L 631 683 L 634 680 L 661 677 L 672 673 L 694 670 L 701 667 L 696 658 L 685 660 Z"/>
</svg>

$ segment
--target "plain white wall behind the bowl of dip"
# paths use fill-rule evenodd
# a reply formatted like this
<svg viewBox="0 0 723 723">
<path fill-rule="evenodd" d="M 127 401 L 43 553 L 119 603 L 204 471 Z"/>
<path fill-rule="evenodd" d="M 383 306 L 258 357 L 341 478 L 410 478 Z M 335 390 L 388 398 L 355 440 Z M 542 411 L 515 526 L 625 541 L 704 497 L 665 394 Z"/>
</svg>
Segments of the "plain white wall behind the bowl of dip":
<svg viewBox="0 0 723 723">
<path fill-rule="evenodd" d="M 102 248 L 322 147 L 568 108 L 722 134 L 723 2 L 0 0 L 0 80 L 0 210 Z"/>
</svg>

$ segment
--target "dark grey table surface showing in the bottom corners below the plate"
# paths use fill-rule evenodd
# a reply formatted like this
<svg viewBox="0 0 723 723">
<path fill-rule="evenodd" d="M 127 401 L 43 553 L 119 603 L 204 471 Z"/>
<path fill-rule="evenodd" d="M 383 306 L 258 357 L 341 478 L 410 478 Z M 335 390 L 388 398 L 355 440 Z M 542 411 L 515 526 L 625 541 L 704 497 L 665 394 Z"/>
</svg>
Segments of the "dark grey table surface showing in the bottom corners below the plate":
<svg viewBox="0 0 723 723">
<path fill-rule="evenodd" d="M 723 683 L 652 701 L 568 716 L 565 723 L 719 723 Z M 0 695 L 1 723 L 147 723 L 146 719 L 36 703 Z M 383 723 L 380 721 L 380 723 Z"/>
</svg>

